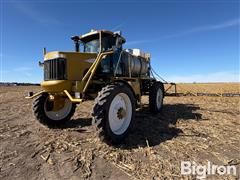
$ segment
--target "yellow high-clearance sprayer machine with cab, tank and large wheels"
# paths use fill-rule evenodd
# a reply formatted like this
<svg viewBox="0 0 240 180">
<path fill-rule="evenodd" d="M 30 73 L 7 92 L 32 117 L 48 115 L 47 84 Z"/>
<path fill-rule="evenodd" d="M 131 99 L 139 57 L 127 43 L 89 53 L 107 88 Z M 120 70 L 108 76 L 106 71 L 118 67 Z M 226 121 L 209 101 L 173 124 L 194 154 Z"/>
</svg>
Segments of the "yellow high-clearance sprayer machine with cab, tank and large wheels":
<svg viewBox="0 0 240 180">
<path fill-rule="evenodd" d="M 44 70 L 42 91 L 29 92 L 35 98 L 36 119 L 49 127 L 70 120 L 76 105 L 95 100 L 92 123 L 103 139 L 121 143 L 134 124 L 141 96 L 149 96 L 154 113 L 163 105 L 164 86 L 151 76 L 150 54 L 123 49 L 120 32 L 91 30 L 74 36 L 75 52 L 46 53 L 39 65 Z"/>
</svg>

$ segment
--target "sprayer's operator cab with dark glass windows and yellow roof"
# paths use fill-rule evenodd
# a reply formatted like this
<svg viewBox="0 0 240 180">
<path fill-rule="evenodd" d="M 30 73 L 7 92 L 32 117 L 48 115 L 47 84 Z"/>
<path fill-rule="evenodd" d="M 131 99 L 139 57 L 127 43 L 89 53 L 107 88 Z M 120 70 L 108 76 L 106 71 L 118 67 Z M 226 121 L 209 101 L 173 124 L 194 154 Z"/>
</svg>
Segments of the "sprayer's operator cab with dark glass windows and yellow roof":
<svg viewBox="0 0 240 180">
<path fill-rule="evenodd" d="M 122 63 L 118 66 L 118 60 L 121 57 L 122 44 L 126 40 L 120 32 L 111 32 L 107 30 L 91 30 L 82 36 L 74 36 L 72 40 L 75 43 L 76 52 L 81 49 L 82 53 L 96 53 L 114 50 L 114 53 L 105 56 L 96 70 L 95 77 L 111 77 L 113 73 L 123 75 Z M 116 68 L 117 67 L 117 68 Z"/>
</svg>

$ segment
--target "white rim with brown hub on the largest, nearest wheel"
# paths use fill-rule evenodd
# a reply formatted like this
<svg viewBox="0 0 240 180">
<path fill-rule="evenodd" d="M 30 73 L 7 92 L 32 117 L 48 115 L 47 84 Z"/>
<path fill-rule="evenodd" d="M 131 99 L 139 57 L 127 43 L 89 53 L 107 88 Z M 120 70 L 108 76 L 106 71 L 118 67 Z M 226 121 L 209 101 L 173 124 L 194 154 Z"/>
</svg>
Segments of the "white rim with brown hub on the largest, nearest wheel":
<svg viewBox="0 0 240 180">
<path fill-rule="evenodd" d="M 108 119 L 114 134 L 121 135 L 128 129 L 132 119 L 132 102 L 127 94 L 119 93 L 113 98 Z"/>
</svg>

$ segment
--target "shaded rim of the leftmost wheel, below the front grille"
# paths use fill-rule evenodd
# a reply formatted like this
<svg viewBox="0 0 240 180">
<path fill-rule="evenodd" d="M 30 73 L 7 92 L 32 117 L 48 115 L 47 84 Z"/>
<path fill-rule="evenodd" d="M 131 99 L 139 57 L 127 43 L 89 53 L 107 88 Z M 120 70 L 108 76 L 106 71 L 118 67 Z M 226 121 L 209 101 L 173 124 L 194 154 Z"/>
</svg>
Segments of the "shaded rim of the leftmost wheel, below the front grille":
<svg viewBox="0 0 240 180">
<path fill-rule="evenodd" d="M 65 99 L 63 108 L 57 111 L 47 110 L 47 103 L 49 103 L 49 98 L 47 98 L 44 103 L 44 112 L 49 119 L 54 121 L 66 118 L 72 109 L 72 102 L 69 99 Z"/>
</svg>

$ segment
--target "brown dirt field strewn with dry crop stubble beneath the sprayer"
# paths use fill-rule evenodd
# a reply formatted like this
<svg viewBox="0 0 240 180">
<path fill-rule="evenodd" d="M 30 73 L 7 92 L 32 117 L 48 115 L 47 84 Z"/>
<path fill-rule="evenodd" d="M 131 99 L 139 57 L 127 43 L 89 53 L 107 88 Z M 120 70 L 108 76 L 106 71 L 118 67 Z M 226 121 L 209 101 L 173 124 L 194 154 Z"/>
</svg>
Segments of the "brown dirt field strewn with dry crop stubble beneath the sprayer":
<svg viewBox="0 0 240 180">
<path fill-rule="evenodd" d="M 239 84 L 217 87 L 239 92 Z M 181 176 L 181 161 L 236 165 L 239 174 L 239 97 L 166 97 L 161 114 L 149 113 L 144 97 L 134 131 L 113 147 L 95 136 L 92 102 L 61 128 L 40 125 L 23 98 L 32 89 L 39 87 L 0 87 L 0 179 L 194 179 Z"/>
</svg>

